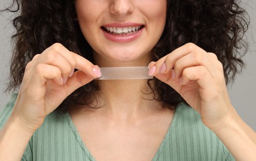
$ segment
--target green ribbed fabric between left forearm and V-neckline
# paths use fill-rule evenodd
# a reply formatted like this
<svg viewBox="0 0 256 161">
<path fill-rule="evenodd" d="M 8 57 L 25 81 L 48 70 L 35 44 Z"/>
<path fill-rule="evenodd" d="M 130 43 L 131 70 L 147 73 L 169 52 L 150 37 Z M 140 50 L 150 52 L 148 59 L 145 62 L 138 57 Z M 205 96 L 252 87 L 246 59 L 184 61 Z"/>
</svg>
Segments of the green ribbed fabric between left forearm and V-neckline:
<svg viewBox="0 0 256 161">
<path fill-rule="evenodd" d="M 34 160 L 89 160 L 90 154 L 72 124 L 69 113 L 53 111 L 34 133 L 29 146 Z M 26 149 L 29 152 L 29 149 Z"/>
</svg>

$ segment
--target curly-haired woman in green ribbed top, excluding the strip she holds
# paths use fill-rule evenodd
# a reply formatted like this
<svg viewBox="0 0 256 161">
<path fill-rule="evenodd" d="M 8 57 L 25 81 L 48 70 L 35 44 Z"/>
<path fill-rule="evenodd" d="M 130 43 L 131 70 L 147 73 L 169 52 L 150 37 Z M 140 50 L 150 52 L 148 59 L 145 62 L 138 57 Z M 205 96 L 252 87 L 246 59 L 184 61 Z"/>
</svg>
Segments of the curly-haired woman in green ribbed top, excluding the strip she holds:
<svg viewBox="0 0 256 161">
<path fill-rule="evenodd" d="M 255 160 L 225 87 L 243 14 L 235 1 L 21 1 L 0 159 Z M 154 79 L 94 80 L 99 66 Z"/>
</svg>

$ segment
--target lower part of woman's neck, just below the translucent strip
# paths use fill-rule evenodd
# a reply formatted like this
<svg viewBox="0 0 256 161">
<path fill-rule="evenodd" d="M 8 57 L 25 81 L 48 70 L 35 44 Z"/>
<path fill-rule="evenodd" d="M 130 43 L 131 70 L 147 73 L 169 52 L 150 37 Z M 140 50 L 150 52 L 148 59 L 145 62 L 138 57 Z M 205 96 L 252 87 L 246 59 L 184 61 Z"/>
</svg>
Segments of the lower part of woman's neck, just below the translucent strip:
<svg viewBox="0 0 256 161">
<path fill-rule="evenodd" d="M 98 81 L 100 99 L 108 115 L 129 119 L 151 113 L 160 107 L 153 100 L 146 79 Z"/>
</svg>

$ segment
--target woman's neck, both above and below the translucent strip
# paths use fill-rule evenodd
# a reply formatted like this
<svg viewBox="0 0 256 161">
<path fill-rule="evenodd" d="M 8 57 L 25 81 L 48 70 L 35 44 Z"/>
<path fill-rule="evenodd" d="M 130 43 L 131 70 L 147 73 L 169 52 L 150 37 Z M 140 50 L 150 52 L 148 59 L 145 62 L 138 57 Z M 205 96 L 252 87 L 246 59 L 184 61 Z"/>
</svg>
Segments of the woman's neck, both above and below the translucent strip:
<svg viewBox="0 0 256 161">
<path fill-rule="evenodd" d="M 113 61 L 94 52 L 95 64 L 100 67 L 148 66 L 151 53 L 141 54 L 130 61 Z M 160 103 L 153 99 L 147 79 L 129 80 L 98 80 L 100 86 L 99 99 L 109 115 L 131 118 L 145 115 L 160 107 Z"/>
</svg>

